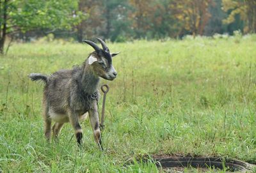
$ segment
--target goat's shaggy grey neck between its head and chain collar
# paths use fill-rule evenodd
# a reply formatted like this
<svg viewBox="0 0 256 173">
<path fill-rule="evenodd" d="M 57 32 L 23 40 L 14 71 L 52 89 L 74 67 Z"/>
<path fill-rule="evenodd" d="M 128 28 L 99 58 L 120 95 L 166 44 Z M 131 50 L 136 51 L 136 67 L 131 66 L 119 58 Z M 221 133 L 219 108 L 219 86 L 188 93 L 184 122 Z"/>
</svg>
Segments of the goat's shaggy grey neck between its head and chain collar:
<svg viewBox="0 0 256 173">
<path fill-rule="evenodd" d="M 99 77 L 97 77 L 93 73 L 92 66 L 90 66 L 87 62 L 84 63 L 83 66 L 83 74 L 82 74 L 82 87 L 84 93 L 93 94 L 97 91 L 99 84 Z"/>
</svg>

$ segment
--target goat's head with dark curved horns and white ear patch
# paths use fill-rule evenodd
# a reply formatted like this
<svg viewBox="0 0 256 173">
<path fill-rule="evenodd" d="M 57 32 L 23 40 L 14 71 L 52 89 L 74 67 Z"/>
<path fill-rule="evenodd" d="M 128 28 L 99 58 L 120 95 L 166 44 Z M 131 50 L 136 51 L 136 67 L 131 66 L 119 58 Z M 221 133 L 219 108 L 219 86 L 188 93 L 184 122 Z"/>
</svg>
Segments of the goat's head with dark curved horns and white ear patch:
<svg viewBox="0 0 256 173">
<path fill-rule="evenodd" d="M 102 49 L 100 49 L 97 44 L 93 43 L 93 41 L 83 40 L 95 50 L 88 57 L 88 64 L 92 66 L 95 75 L 106 80 L 114 80 L 117 72 L 112 64 L 112 57 L 119 54 L 119 52 L 110 53 L 106 43 L 100 38 L 96 39 L 102 45 Z"/>
</svg>

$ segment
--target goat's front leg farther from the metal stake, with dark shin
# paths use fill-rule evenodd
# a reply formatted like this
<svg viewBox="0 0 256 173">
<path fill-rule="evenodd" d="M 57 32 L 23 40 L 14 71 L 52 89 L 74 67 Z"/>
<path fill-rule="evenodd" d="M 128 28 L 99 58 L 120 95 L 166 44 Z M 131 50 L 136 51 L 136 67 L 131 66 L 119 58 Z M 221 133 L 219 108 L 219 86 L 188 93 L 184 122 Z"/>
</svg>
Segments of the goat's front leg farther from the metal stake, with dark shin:
<svg viewBox="0 0 256 173">
<path fill-rule="evenodd" d="M 83 130 L 79 124 L 79 116 L 77 114 L 77 112 L 75 111 L 68 111 L 68 118 L 69 118 L 69 122 L 71 123 L 72 127 L 75 130 L 75 134 L 76 134 L 76 140 L 77 143 L 80 146 L 82 146 L 82 139 L 83 139 Z"/>
</svg>

